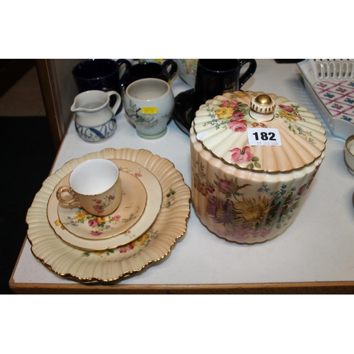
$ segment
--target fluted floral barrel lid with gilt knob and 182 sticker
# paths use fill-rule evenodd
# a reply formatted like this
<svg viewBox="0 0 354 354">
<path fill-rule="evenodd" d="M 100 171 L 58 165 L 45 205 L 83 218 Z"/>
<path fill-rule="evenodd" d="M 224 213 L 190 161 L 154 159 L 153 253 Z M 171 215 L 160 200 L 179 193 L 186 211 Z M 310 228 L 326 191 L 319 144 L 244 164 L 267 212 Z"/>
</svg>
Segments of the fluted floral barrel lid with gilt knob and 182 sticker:
<svg viewBox="0 0 354 354">
<path fill-rule="evenodd" d="M 225 164 L 267 173 L 302 169 L 326 148 L 315 115 L 273 93 L 234 91 L 201 105 L 190 130 Z"/>
</svg>

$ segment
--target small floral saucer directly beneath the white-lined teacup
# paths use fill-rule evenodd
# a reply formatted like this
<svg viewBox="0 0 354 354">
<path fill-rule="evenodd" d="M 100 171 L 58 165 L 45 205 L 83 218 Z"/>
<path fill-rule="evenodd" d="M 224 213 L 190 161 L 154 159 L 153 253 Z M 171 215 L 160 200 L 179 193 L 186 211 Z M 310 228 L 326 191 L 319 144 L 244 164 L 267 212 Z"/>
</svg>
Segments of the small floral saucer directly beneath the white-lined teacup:
<svg viewBox="0 0 354 354">
<path fill-rule="evenodd" d="M 67 174 L 59 182 L 59 185 L 68 185 L 69 176 L 70 174 Z M 154 175 L 152 177 L 156 180 Z M 117 236 L 118 234 L 127 232 L 140 219 L 147 202 L 147 192 L 142 182 L 139 181 L 139 178 L 133 174 L 120 171 L 120 181 L 122 183 L 122 201 L 118 209 L 105 217 L 91 215 L 77 204 L 66 205 L 61 202 L 57 203 L 55 201 L 57 199 L 57 188 L 52 193 L 48 206 L 51 200 L 57 203 L 59 221 L 67 231 L 75 236 L 91 240 L 108 239 L 109 237 Z M 157 183 L 159 182 L 157 181 Z M 49 214 L 48 209 L 48 219 L 50 219 Z M 56 224 L 57 220 L 55 226 Z M 56 227 L 53 228 L 56 229 Z"/>
</svg>

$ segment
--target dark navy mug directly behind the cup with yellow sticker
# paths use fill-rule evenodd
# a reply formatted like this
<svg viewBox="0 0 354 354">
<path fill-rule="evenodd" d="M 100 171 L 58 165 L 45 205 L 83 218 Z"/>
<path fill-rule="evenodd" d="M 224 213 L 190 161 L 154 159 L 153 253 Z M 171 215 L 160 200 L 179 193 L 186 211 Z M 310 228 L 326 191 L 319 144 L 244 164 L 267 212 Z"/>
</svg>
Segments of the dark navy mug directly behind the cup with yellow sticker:
<svg viewBox="0 0 354 354">
<path fill-rule="evenodd" d="M 172 59 L 167 59 L 162 62 L 162 64 L 142 62 L 132 65 L 132 67 L 127 69 L 127 72 L 125 72 L 125 89 L 127 89 L 127 86 L 132 84 L 133 81 L 137 81 L 139 79 L 154 78 L 169 82 L 173 76 L 176 75 L 177 69 L 177 63 Z"/>
</svg>

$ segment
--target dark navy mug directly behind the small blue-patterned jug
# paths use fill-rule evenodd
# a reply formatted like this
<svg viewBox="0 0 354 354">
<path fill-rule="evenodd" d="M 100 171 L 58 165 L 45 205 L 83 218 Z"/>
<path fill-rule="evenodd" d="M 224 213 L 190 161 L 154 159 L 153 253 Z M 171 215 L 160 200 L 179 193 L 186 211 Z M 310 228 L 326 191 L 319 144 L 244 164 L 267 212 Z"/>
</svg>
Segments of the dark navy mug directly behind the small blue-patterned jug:
<svg viewBox="0 0 354 354">
<path fill-rule="evenodd" d="M 127 59 L 89 59 L 76 64 L 72 69 L 72 74 L 76 80 L 79 92 L 101 90 L 116 91 L 122 96 L 122 87 L 124 85 L 124 75 L 120 78 L 120 67 L 125 64 L 129 69 L 132 64 Z M 114 105 L 114 102 L 110 102 Z M 122 110 L 122 104 L 118 112 Z"/>
</svg>

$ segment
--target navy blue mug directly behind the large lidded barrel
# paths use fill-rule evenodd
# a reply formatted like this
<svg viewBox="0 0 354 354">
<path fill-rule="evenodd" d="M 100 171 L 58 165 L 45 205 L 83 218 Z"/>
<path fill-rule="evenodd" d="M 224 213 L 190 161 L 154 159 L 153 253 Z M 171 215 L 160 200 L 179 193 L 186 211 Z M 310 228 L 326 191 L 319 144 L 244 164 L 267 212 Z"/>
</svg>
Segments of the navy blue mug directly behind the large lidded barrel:
<svg viewBox="0 0 354 354">
<path fill-rule="evenodd" d="M 241 67 L 249 63 L 246 72 L 239 76 Z M 255 59 L 199 59 L 195 78 L 195 109 L 215 96 L 239 91 L 256 72 Z"/>
</svg>

